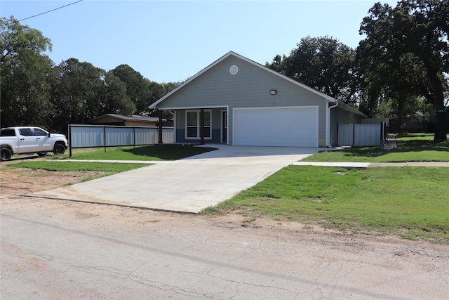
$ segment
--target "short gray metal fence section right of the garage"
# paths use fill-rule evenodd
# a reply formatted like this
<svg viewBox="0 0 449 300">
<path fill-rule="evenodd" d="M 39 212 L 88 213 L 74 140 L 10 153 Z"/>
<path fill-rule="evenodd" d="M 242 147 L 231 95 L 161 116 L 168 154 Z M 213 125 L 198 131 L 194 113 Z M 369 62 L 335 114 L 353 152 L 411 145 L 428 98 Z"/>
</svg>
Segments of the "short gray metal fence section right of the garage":
<svg viewBox="0 0 449 300">
<path fill-rule="evenodd" d="M 339 146 L 379 146 L 383 145 L 384 123 L 382 124 L 338 124 Z"/>
</svg>

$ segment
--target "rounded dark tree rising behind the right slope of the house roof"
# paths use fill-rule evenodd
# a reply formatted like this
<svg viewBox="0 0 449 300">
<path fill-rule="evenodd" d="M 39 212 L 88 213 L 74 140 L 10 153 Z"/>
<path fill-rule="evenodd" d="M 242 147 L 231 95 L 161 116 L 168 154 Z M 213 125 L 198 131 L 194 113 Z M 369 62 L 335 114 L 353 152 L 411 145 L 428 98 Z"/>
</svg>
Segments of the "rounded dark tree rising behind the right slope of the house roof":
<svg viewBox="0 0 449 300">
<path fill-rule="evenodd" d="M 276 55 L 266 66 L 327 95 L 354 102 L 355 51 L 330 37 L 301 39 L 290 56 Z"/>
</svg>

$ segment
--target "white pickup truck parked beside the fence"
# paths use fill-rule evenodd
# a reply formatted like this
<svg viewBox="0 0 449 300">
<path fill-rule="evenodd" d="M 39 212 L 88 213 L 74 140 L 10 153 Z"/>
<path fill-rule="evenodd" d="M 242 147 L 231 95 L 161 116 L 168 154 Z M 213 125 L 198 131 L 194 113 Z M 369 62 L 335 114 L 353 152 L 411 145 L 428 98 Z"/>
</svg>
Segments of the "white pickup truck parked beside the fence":
<svg viewBox="0 0 449 300">
<path fill-rule="evenodd" d="M 15 154 L 37 153 L 43 157 L 49 151 L 64 154 L 69 146 L 63 134 L 49 133 L 39 127 L 18 126 L 0 129 L 1 160 L 10 160 Z"/>
</svg>

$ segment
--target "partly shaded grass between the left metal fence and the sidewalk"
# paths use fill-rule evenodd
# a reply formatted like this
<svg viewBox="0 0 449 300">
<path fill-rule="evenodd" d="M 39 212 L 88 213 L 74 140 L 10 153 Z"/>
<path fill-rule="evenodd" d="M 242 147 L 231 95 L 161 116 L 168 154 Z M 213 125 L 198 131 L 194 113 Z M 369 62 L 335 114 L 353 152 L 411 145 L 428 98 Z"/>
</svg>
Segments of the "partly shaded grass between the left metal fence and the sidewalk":
<svg viewBox="0 0 449 300">
<path fill-rule="evenodd" d="M 85 148 L 72 150 L 72 157 L 67 151 L 65 155 L 55 155 L 53 159 L 103 159 L 103 160 L 176 160 L 204 152 L 213 151 L 215 148 L 195 147 L 194 145 L 163 144 L 128 146 L 114 148 Z"/>
</svg>

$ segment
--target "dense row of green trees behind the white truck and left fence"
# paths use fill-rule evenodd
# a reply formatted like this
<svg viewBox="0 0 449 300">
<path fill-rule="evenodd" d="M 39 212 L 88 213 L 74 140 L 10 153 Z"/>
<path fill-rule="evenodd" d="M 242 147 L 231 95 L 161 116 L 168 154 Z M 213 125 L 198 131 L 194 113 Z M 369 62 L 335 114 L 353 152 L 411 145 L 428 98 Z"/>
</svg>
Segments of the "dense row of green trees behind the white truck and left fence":
<svg viewBox="0 0 449 300">
<path fill-rule="evenodd" d="M 76 58 L 60 65 L 43 55 L 50 39 L 11 17 L 0 20 L 1 126 L 66 131 L 107 113 L 147 115 L 148 106 L 179 83 L 145 79 L 128 65 L 107 72 Z M 168 115 L 164 115 L 168 117 Z"/>
</svg>

